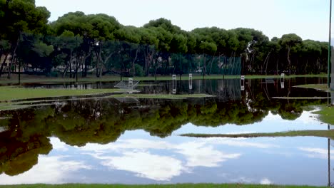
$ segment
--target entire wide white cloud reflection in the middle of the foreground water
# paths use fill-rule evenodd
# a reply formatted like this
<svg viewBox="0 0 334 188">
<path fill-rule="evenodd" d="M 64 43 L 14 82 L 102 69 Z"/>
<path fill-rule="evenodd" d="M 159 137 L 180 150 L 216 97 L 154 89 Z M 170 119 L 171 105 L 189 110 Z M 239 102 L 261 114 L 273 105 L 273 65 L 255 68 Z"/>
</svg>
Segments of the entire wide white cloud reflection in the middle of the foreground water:
<svg viewBox="0 0 334 188">
<path fill-rule="evenodd" d="M 108 145 L 88 144 L 78 149 L 102 160 L 102 165 L 112 169 L 128 170 L 137 173 L 138 177 L 164 181 L 180 175 L 181 172 L 189 172 L 188 167 L 218 167 L 220 162 L 241 156 L 239 153 L 229 154 L 216 150 L 214 145 L 216 142 L 205 139 L 181 144 L 131 139 L 118 140 Z M 173 156 L 173 153 L 181 154 L 186 157 L 186 164 L 173 157 L 152 155 L 149 150 L 171 152 L 169 156 Z M 111 156 L 115 155 L 114 152 L 121 156 Z"/>
</svg>

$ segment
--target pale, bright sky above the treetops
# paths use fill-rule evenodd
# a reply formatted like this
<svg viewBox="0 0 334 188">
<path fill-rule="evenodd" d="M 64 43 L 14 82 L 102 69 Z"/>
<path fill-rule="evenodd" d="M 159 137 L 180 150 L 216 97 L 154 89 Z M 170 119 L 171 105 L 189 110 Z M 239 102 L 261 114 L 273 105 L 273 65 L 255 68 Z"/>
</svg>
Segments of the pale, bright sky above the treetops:
<svg viewBox="0 0 334 188">
<path fill-rule="evenodd" d="M 166 18 L 186 31 L 198 27 L 255 28 L 272 38 L 296 33 L 328 41 L 330 0 L 36 0 L 51 11 L 50 21 L 70 11 L 115 16 L 123 25 L 143 26 Z"/>
</svg>

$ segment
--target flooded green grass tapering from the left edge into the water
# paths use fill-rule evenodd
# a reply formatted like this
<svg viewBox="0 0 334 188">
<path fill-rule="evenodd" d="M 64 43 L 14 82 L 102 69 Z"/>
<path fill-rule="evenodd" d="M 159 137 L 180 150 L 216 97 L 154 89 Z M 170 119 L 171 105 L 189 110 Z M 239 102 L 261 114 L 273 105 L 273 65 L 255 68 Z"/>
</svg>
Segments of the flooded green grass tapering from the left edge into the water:
<svg viewBox="0 0 334 188">
<path fill-rule="evenodd" d="M 164 95 L 164 94 L 128 94 L 128 90 L 120 89 L 46 89 L 46 88 L 17 88 L 0 87 L 0 110 L 16 110 L 33 106 L 50 105 L 54 102 L 65 100 L 81 100 L 96 98 L 153 98 L 153 99 L 185 99 L 185 98 L 208 98 L 212 95 L 189 94 L 189 95 Z M 133 90 L 136 92 L 136 90 Z M 123 93 L 123 94 L 115 94 Z M 100 94 L 110 94 L 104 96 L 94 96 Z M 87 96 L 89 95 L 89 96 Z M 81 96 L 81 98 L 64 99 L 61 97 Z M 82 97 L 83 96 L 83 97 Z M 51 98 L 51 99 L 49 99 Z M 54 98 L 54 99 L 53 99 Z"/>
</svg>

